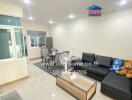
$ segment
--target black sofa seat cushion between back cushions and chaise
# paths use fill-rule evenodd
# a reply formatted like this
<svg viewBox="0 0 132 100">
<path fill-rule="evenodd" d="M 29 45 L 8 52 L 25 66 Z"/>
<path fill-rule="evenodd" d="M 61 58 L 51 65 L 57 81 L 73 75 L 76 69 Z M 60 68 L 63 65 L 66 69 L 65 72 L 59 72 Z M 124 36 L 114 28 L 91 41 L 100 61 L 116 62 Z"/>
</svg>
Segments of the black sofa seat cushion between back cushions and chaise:
<svg viewBox="0 0 132 100">
<path fill-rule="evenodd" d="M 105 77 L 109 73 L 109 68 L 105 67 L 86 67 L 87 72 L 99 75 L 101 77 Z"/>
</svg>

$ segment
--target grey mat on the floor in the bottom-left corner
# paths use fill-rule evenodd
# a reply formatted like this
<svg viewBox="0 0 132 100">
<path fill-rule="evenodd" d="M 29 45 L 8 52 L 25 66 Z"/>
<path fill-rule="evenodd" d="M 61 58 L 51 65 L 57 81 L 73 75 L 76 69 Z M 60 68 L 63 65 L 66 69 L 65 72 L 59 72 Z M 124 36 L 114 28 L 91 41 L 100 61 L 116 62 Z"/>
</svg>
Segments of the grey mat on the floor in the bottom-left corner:
<svg viewBox="0 0 132 100">
<path fill-rule="evenodd" d="M 19 93 L 15 90 L 15 91 L 9 92 L 5 95 L 2 95 L 0 97 L 0 100 L 23 100 L 23 99 L 19 95 Z"/>
</svg>

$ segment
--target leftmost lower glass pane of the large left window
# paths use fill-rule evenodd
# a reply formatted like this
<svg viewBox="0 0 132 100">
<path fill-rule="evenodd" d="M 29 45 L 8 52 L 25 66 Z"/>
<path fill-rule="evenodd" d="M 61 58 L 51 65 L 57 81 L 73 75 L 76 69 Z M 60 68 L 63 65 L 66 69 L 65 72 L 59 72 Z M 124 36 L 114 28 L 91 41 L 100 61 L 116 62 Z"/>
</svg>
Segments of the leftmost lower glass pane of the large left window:
<svg viewBox="0 0 132 100">
<path fill-rule="evenodd" d="M 12 58 L 11 30 L 0 29 L 0 59 Z"/>
</svg>

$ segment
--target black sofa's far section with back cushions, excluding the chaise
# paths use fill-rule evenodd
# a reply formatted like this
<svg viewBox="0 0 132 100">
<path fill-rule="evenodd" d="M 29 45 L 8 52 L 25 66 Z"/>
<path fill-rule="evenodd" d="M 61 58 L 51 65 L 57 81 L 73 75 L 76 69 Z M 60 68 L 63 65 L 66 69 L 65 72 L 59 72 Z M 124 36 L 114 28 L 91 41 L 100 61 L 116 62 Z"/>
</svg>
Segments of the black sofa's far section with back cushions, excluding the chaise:
<svg viewBox="0 0 132 100">
<path fill-rule="evenodd" d="M 74 70 L 86 70 L 86 76 L 102 81 L 109 73 L 111 57 L 99 56 L 92 53 L 83 53 L 82 60 L 74 60 Z M 81 64 L 80 64 L 81 63 Z M 86 66 L 86 63 L 87 66 Z"/>
</svg>

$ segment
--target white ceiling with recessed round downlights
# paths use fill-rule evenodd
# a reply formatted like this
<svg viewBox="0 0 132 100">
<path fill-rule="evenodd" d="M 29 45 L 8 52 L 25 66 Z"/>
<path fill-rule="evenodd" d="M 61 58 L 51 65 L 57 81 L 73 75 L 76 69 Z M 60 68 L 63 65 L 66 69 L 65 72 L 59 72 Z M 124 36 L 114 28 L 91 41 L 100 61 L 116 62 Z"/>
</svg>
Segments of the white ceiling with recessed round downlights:
<svg viewBox="0 0 132 100">
<path fill-rule="evenodd" d="M 86 8 L 90 5 L 99 5 L 103 8 L 103 13 L 122 10 L 132 7 L 132 0 L 127 0 L 126 5 L 121 6 L 121 0 L 30 0 L 27 5 L 23 0 L 0 0 L 0 2 L 20 6 L 24 10 L 24 20 L 28 21 L 29 16 L 33 16 L 33 23 L 49 25 L 49 20 L 55 24 L 70 21 L 69 14 L 74 14 L 77 18 L 86 17 Z"/>
</svg>

